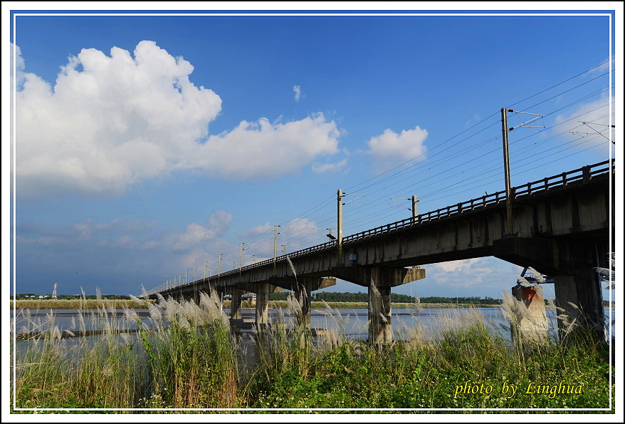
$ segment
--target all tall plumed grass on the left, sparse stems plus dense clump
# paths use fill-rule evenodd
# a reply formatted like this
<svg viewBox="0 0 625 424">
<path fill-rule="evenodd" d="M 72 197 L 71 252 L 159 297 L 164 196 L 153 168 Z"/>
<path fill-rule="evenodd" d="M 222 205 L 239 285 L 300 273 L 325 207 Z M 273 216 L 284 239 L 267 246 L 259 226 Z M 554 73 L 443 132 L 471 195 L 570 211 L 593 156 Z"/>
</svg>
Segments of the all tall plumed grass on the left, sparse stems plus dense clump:
<svg viewBox="0 0 625 424">
<path fill-rule="evenodd" d="M 137 299 L 138 300 L 138 299 Z M 134 309 L 117 318 L 101 301 L 77 331 L 100 336 L 61 338 L 51 311 L 38 322 L 23 311 L 13 382 L 17 408 L 232 408 L 238 405 L 236 349 L 215 296 L 200 303 L 160 298 L 149 322 Z M 136 333 L 123 333 L 128 324 Z M 90 326 L 88 325 L 90 324 Z M 71 334 L 69 334 L 71 335 Z"/>
</svg>

